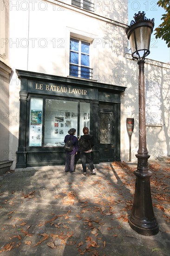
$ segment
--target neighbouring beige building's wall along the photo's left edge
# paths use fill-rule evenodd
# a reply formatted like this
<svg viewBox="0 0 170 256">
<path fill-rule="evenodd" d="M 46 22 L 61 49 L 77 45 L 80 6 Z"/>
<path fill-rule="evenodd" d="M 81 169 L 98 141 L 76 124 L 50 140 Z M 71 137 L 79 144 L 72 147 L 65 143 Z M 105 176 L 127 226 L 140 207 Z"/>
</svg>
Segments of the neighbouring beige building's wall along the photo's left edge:
<svg viewBox="0 0 170 256">
<path fill-rule="evenodd" d="M 0 1 L 0 173 L 12 164 L 9 150 L 9 1 Z"/>
</svg>

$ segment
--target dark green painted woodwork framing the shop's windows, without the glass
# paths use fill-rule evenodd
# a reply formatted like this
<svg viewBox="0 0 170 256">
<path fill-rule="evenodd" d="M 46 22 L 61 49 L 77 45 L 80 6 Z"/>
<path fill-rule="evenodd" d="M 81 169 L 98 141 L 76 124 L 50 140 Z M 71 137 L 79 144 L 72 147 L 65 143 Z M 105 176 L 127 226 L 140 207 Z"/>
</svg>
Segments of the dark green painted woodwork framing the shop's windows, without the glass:
<svg viewBox="0 0 170 256">
<path fill-rule="evenodd" d="M 41 97 L 55 99 L 74 99 L 79 102 L 87 100 L 91 103 L 91 134 L 94 135 L 95 146 L 93 147 L 93 162 L 99 163 L 107 161 L 108 154 L 113 155 L 111 161 L 120 160 L 120 94 L 124 92 L 126 87 L 99 83 L 93 80 L 77 79 L 70 77 L 61 77 L 48 74 L 29 72 L 24 70 L 16 70 L 18 77 L 21 80 L 20 90 L 20 127 L 19 127 L 19 145 L 17 153 L 16 168 L 26 168 L 31 166 L 46 166 L 46 165 L 64 165 L 65 151 L 60 147 L 29 147 L 29 116 L 30 116 L 30 98 Z M 36 88 L 37 83 L 37 88 Z M 40 86 L 42 84 L 42 86 Z M 46 90 L 51 88 L 50 90 Z M 58 88 L 57 88 L 58 86 Z M 62 88 L 62 89 L 61 89 Z M 63 90 L 65 89 L 65 92 Z M 55 90 L 53 90 L 55 89 Z M 74 90 L 73 90 L 74 89 Z M 78 94 L 81 93 L 82 94 Z M 59 91 L 61 90 L 61 91 Z M 72 91 L 73 90 L 73 91 Z M 84 91 L 83 91 L 84 90 Z M 85 93 L 86 91 L 86 93 Z M 72 93 L 72 92 L 77 92 Z M 84 92 L 84 94 L 83 94 Z M 100 146 L 100 131 L 99 131 L 99 102 L 102 104 L 108 103 L 114 113 L 117 113 L 115 123 L 116 132 L 113 135 L 114 147 L 111 146 L 111 152 L 99 158 Z M 44 118 L 45 103 L 43 103 L 43 118 Z M 44 128 L 42 129 L 44 133 Z M 42 138 L 43 143 L 43 138 Z M 43 144 L 42 144 L 43 145 Z M 106 149 L 105 149 L 106 150 Z M 110 150 L 110 149 L 109 149 Z M 110 159 L 110 158 L 108 158 Z M 81 163 L 79 153 L 76 155 L 75 163 Z"/>
</svg>

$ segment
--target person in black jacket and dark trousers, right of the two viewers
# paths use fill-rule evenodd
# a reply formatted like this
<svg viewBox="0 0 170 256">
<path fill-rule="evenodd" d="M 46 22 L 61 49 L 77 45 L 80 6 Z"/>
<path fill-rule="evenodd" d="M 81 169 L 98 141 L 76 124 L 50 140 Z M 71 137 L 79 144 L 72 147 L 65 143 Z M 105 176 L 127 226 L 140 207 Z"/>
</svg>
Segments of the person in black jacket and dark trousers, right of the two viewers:
<svg viewBox="0 0 170 256">
<path fill-rule="evenodd" d="M 93 135 L 88 134 L 89 128 L 87 127 L 83 128 L 83 133 L 84 135 L 82 135 L 78 141 L 83 174 L 86 175 L 86 162 L 88 162 L 91 168 L 91 173 L 96 175 L 94 164 L 92 162 L 92 147 L 94 146 L 94 137 Z"/>
</svg>

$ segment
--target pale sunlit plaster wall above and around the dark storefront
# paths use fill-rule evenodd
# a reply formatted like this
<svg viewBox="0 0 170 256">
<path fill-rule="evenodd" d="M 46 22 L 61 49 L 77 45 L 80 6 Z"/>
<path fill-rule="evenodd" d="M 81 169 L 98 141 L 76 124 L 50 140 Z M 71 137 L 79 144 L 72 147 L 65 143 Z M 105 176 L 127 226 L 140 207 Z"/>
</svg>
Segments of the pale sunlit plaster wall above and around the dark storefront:
<svg viewBox="0 0 170 256">
<path fill-rule="evenodd" d="M 136 118 L 132 150 L 135 152 L 138 148 L 138 123 L 135 114 L 138 113 L 138 67 L 127 50 L 128 40 L 125 34 L 128 25 L 127 7 L 119 8 L 116 5 L 111 7 L 113 2 L 115 1 L 94 1 L 94 12 L 88 12 L 71 6 L 71 0 L 34 2 L 26 0 L 22 4 L 13 0 L 13 6 L 16 6 L 10 8 L 10 64 L 14 71 L 21 69 L 67 77 L 70 37 L 91 42 L 92 79 L 127 87 L 121 97 L 121 159 L 127 160 L 129 141 L 125 125 L 126 117 Z M 162 94 L 165 91 L 169 93 L 169 72 L 170 65 L 147 59 L 146 77 L 148 74 L 159 76 L 158 82 L 161 84 Z M 151 81 L 150 78 L 148 81 Z M 13 168 L 18 147 L 19 92 L 20 81 L 14 72 L 10 82 L 9 109 L 13 117 L 10 122 L 9 143 L 10 151 L 13 153 Z M 153 157 L 169 154 L 170 102 L 165 98 L 164 95 L 161 98 L 162 105 L 159 105 L 161 126 L 151 124 L 147 126 L 149 153 L 156 150 Z M 161 107 L 163 104 L 166 105 L 164 117 Z M 153 111 L 152 109 L 153 107 L 150 111 Z"/>
</svg>

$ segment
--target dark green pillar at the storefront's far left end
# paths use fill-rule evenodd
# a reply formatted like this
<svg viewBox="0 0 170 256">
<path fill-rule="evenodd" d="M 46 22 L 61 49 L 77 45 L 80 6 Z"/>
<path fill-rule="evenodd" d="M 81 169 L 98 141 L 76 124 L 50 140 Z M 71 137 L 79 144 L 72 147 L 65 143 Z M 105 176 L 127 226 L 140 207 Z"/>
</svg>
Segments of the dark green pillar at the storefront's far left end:
<svg viewBox="0 0 170 256">
<path fill-rule="evenodd" d="M 26 168 L 26 121 L 27 121 L 27 92 L 20 91 L 20 125 L 19 146 L 16 168 Z"/>
</svg>

